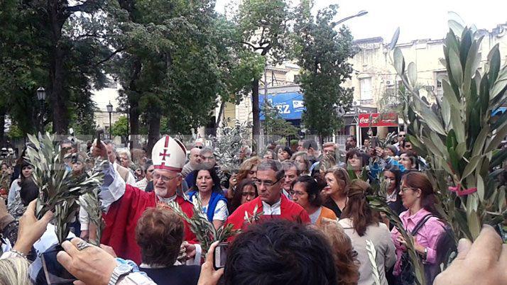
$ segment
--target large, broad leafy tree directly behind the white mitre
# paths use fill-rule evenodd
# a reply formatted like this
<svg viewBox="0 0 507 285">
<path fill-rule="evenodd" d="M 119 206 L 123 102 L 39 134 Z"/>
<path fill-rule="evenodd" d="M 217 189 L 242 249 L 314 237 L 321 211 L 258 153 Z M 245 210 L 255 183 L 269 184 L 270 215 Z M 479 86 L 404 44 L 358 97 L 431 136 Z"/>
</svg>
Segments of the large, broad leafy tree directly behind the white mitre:
<svg viewBox="0 0 507 285">
<path fill-rule="evenodd" d="M 190 133 L 208 124 L 217 96 L 236 100 L 231 94 L 251 82 L 256 65 L 243 59 L 255 56 L 231 47 L 236 30 L 217 16 L 214 1 L 119 3 L 130 23 L 121 27 L 125 52 L 116 57 L 115 74 L 133 132 L 139 118 L 149 127 L 148 152 L 158 140 L 160 118 L 168 119 L 171 132 Z"/>
</svg>

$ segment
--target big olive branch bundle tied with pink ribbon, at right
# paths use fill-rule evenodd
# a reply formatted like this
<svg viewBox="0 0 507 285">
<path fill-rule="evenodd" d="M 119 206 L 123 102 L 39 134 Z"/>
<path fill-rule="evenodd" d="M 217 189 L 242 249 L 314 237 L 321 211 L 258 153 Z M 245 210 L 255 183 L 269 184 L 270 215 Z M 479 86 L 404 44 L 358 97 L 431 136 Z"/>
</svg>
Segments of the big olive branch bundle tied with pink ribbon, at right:
<svg viewBox="0 0 507 285">
<path fill-rule="evenodd" d="M 412 64 L 405 70 L 399 49 L 394 50 L 394 66 L 410 91 L 403 113 L 410 123 L 408 138 L 430 162 L 427 174 L 440 190 L 442 203 L 438 206 L 458 238 L 473 240 L 482 224 L 496 225 L 507 216 L 505 186 L 498 184 L 499 172 L 491 172 L 501 167 L 507 155 L 505 149 L 494 151 L 507 135 L 507 116 L 498 121 L 491 117 L 491 112 L 507 101 L 507 67 L 500 67 L 495 45 L 486 68 L 479 69 L 482 37 L 457 23 L 452 27 L 444 45 L 448 74 L 442 80 L 444 94 L 435 97 L 433 106 L 414 88 Z"/>
</svg>

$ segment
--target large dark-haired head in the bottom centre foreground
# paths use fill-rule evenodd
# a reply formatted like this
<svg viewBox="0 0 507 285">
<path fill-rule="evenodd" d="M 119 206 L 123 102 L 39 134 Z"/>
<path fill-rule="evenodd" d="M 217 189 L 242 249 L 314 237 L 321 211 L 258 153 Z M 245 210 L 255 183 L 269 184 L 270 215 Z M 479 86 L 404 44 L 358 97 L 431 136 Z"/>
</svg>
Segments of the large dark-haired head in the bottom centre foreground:
<svg viewBox="0 0 507 285">
<path fill-rule="evenodd" d="M 337 284 L 331 245 L 320 230 L 288 220 L 251 225 L 229 247 L 224 284 Z"/>
</svg>

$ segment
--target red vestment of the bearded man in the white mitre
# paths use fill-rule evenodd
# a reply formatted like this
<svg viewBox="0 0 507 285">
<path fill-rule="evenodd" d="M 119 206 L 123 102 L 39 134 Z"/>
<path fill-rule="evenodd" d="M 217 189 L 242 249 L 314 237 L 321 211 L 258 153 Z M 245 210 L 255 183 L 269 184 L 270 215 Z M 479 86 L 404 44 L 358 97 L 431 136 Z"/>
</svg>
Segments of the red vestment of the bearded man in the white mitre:
<svg viewBox="0 0 507 285">
<path fill-rule="evenodd" d="M 125 194 L 109 207 L 104 213 L 106 228 L 102 232 L 101 243 L 113 247 L 118 257 L 131 259 L 137 264 L 141 263 L 141 248 L 136 242 L 136 225 L 139 218 L 147 208 L 155 208 L 158 203 L 155 191 L 145 192 L 126 184 Z M 193 214 L 193 205 L 180 196 L 176 203 L 190 218 Z M 185 240 L 196 242 L 195 234 L 185 222 Z"/>
</svg>

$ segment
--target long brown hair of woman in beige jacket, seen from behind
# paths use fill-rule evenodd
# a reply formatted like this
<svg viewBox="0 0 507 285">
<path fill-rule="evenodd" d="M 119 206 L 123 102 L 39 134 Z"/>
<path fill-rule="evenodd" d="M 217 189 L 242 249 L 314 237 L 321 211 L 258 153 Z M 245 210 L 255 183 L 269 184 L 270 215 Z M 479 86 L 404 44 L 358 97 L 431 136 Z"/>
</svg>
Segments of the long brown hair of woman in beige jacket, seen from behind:
<svg viewBox="0 0 507 285">
<path fill-rule="evenodd" d="M 347 191 L 347 205 L 340 218 L 350 218 L 354 224 L 354 230 L 362 237 L 369 225 L 378 224 L 376 216 L 366 200 L 367 194 L 373 194 L 370 184 L 361 179 L 354 179 Z"/>
</svg>

